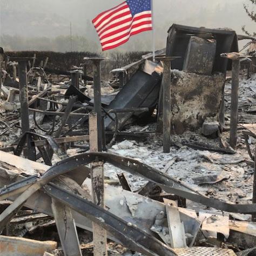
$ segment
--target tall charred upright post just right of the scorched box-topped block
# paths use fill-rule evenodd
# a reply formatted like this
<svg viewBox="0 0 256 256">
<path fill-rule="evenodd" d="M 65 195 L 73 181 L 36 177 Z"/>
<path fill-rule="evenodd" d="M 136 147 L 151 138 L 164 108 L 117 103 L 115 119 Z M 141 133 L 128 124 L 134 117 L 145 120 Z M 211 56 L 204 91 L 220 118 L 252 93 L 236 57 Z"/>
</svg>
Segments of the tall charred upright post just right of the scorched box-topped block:
<svg viewBox="0 0 256 256">
<path fill-rule="evenodd" d="M 238 124 L 238 89 L 239 89 L 240 60 L 232 60 L 232 91 L 231 91 L 231 117 L 230 117 L 230 145 L 237 149 Z"/>
</svg>

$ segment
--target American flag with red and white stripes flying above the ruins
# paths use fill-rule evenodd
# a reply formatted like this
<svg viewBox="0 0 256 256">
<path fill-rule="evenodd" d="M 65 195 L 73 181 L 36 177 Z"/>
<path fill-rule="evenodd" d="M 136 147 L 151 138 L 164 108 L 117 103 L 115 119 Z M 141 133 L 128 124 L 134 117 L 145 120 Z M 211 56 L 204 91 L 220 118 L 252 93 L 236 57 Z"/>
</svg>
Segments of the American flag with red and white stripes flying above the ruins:
<svg viewBox="0 0 256 256">
<path fill-rule="evenodd" d="M 127 0 L 92 20 L 102 50 L 118 47 L 130 36 L 152 30 L 151 0 Z"/>
</svg>

